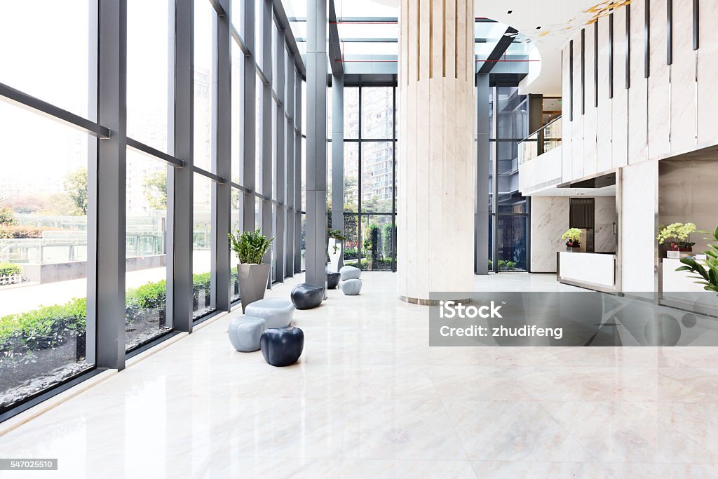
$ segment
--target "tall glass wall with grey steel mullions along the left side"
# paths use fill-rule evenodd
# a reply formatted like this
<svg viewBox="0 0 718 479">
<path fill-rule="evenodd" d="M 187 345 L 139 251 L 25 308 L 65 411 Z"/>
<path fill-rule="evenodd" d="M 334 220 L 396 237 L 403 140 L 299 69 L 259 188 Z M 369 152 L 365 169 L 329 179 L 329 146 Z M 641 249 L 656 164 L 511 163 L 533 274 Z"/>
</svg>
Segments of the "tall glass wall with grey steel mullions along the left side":
<svg viewBox="0 0 718 479">
<path fill-rule="evenodd" d="M 127 0 L 125 56 L 112 50 L 123 53 L 112 24 L 120 15 L 103 17 L 98 5 L 39 0 L 36 29 L 16 21 L 27 14 L 22 3 L 0 6 L 8 45 L 0 49 L 0 421 L 229 310 L 241 292 L 227 234 L 257 228 L 262 208 L 273 213 L 271 231 L 284 234 L 273 270 L 276 258 L 294 260 L 276 279 L 298 272 L 299 231 L 289 236 L 276 222 L 299 224 L 301 205 L 295 197 L 279 203 L 281 185 L 261 191 L 254 181 L 281 167 L 300 187 L 302 142 L 286 136 L 301 137 L 294 112 L 304 68 L 293 47 L 279 45 L 277 31 L 288 25 L 262 1 Z M 255 45 L 243 42 L 248 24 Z M 264 52 L 274 75 L 255 61 Z M 97 65 L 126 69 L 126 96 L 113 94 Z M 194 65 L 191 75 L 183 65 Z M 62 75 L 48 80 L 52 71 Z M 258 91 L 269 85 L 273 111 L 246 96 L 248 81 Z M 255 124 L 273 113 L 274 129 Z M 261 141 L 273 145 L 274 161 L 259 153 Z M 103 264 L 124 267 L 108 274 Z M 117 343 L 126 355 L 100 354 Z"/>
</svg>

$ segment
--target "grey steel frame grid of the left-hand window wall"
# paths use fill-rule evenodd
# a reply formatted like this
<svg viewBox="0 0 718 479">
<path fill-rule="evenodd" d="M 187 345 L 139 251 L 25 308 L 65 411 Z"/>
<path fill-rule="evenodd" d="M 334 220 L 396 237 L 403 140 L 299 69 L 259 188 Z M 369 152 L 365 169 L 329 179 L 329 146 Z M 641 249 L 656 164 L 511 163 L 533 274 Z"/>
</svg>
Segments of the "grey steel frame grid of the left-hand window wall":
<svg viewBox="0 0 718 479">
<path fill-rule="evenodd" d="M 213 88 L 212 118 L 212 166 L 211 171 L 194 164 L 194 8 L 196 1 L 209 1 L 213 6 Z M 302 56 L 289 30 L 289 22 L 279 0 L 264 0 L 261 12 L 263 27 L 273 20 L 279 25 L 280 42 L 277 59 L 281 79 L 272 90 L 271 71 L 267 78 L 264 70 L 256 64 L 253 56 L 254 1 L 253 0 L 171 0 L 167 2 L 167 22 L 172 41 L 168 53 L 168 144 L 167 152 L 150 147 L 142 141 L 126 136 L 126 68 L 127 68 L 127 0 L 95 0 L 90 2 L 88 26 L 90 79 L 88 83 L 88 117 L 35 98 L 22 90 L 0 83 L 0 100 L 25 108 L 39 116 L 50 118 L 88 134 L 88 311 L 87 352 L 88 363 L 94 371 L 121 370 L 125 361 L 139 350 L 152 348 L 178 332 L 192 332 L 198 321 L 210 315 L 192 318 L 192 217 L 195 175 L 208 178 L 212 186 L 212 263 L 213 296 L 217 312 L 229 311 L 230 304 L 230 252 L 226 234 L 231 220 L 232 188 L 243 192 L 245 208 L 243 229 L 253 229 L 254 200 L 261 199 L 267 205 L 271 218 L 271 206 L 276 205 L 279 228 L 286 223 L 276 248 L 276 264 L 280 271 L 278 279 L 299 273 L 301 265 L 301 178 L 302 171 L 302 79 L 306 75 Z M 244 32 L 241 37 L 231 23 L 232 8 L 244 11 Z M 264 65 L 271 65 L 271 30 L 265 29 Z M 243 82 L 246 96 L 244 128 L 241 134 L 244 150 L 240 167 L 244 170 L 243 184 L 230 180 L 231 158 L 231 42 L 237 42 L 243 52 L 245 75 L 252 81 Z M 267 46 L 269 45 L 269 46 Z M 277 173 L 279 188 L 276 197 L 271 195 L 271 155 L 263 162 L 264 178 L 269 179 L 269 195 L 257 191 L 254 181 L 255 150 L 255 88 L 251 73 L 263 78 L 266 88 L 263 103 L 272 100 L 279 108 L 278 132 L 271 137 L 271 124 L 267 131 L 269 152 L 278 147 L 280 160 Z M 286 85 L 284 83 L 286 78 Z M 285 88 L 286 87 L 286 88 Z M 269 92 L 269 94 L 266 94 Z M 247 93 L 250 93 L 247 95 Z M 269 116 L 271 121 L 271 115 Z M 274 140 L 274 141 L 273 141 Z M 266 145 L 264 146 L 266 148 Z M 131 149 L 144 156 L 167 164 L 167 322 L 172 331 L 133 351 L 125 346 L 125 283 L 126 283 L 126 152 Z M 286 191 L 284 183 L 286 182 Z M 102 192 L 100 194 L 100 192 Z M 248 217 L 251 223 L 247 223 Z M 251 226 L 250 226 L 251 225 Z M 226 294 L 225 294 L 226 293 Z M 64 391 L 82 378 L 92 376 L 83 373 L 67 381 L 40 391 L 37 396 L 22 401 L 17 407 L 3 414 L 0 420 L 27 409 L 40 401 Z"/>
</svg>

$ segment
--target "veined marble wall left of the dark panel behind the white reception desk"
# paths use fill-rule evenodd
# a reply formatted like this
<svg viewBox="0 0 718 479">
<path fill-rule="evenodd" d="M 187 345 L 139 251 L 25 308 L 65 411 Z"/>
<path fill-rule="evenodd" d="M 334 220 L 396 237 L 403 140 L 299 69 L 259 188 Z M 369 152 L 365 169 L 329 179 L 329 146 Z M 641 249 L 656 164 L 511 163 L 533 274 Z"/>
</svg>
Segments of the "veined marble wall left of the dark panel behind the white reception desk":
<svg viewBox="0 0 718 479">
<path fill-rule="evenodd" d="M 569 198 L 531 197 L 531 272 L 555 273 L 556 251 L 566 251 L 561 235 L 569 229 Z"/>
</svg>

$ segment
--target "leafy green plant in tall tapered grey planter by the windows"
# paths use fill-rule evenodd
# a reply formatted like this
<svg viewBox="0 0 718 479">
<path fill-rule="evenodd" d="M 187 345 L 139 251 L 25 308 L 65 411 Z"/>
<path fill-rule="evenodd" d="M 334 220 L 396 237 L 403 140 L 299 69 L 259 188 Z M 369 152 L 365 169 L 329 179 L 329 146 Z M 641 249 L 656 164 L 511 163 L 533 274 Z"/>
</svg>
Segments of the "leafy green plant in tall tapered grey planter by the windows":
<svg viewBox="0 0 718 479">
<path fill-rule="evenodd" d="M 242 312 L 247 304 L 264 298 L 264 292 L 269 282 L 271 264 L 263 263 L 271 242 L 274 238 L 267 238 L 259 229 L 235 234 L 229 233 L 230 245 L 239 259 L 237 264 L 237 279 L 239 293 L 242 301 Z"/>
</svg>

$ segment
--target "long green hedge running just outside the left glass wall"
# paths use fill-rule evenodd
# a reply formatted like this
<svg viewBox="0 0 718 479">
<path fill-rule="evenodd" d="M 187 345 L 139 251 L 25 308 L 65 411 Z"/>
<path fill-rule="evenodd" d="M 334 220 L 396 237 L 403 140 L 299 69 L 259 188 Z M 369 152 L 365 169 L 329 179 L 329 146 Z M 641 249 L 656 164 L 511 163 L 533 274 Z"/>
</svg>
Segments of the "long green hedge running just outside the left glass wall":
<svg viewBox="0 0 718 479">
<path fill-rule="evenodd" d="M 0 264 L 1 266 L 1 264 Z M 232 279 L 237 274 L 233 272 Z M 209 290 L 210 273 L 192 276 L 192 291 Z M 127 289 L 125 293 L 125 322 L 134 322 L 142 312 L 164 309 L 167 302 L 167 282 L 159 281 Z M 24 355 L 27 350 L 54 348 L 62 344 L 70 332 L 85 332 L 87 299 L 73 298 L 65 304 L 38 307 L 35 310 L 0 317 L 0 357 Z M 9 353 L 2 353 L 7 351 Z"/>
</svg>

